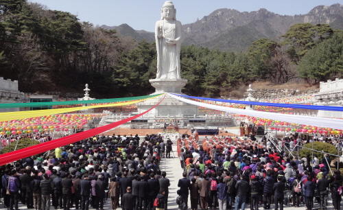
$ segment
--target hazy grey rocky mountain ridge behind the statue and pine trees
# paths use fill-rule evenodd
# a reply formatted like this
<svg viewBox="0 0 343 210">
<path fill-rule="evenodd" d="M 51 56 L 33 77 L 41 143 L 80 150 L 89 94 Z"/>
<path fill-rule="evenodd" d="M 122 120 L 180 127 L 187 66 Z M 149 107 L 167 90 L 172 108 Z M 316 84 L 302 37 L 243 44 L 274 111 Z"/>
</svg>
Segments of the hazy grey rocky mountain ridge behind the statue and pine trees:
<svg viewBox="0 0 343 210">
<path fill-rule="evenodd" d="M 279 39 L 296 23 L 326 23 L 333 29 L 343 30 L 343 5 L 318 5 L 307 14 L 294 16 L 276 14 L 265 8 L 251 12 L 221 8 L 194 23 L 182 25 L 182 45 L 199 45 L 224 51 L 246 51 L 251 43 L 259 38 Z M 137 41 L 143 38 L 149 42 L 154 41 L 154 32 L 134 31 L 127 24 L 101 27 L 115 29 L 119 34 L 131 36 Z"/>
</svg>

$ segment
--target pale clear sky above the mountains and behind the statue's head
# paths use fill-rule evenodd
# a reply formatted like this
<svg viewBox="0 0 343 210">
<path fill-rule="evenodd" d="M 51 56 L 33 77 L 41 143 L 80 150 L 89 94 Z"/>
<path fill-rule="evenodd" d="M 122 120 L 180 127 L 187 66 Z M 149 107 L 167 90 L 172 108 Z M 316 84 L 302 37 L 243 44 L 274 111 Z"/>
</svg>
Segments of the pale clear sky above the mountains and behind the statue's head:
<svg viewBox="0 0 343 210">
<path fill-rule="evenodd" d="M 47 5 L 50 10 L 62 10 L 78 15 L 80 21 L 94 25 L 127 23 L 134 30 L 154 31 L 161 18 L 165 0 L 28 0 Z M 317 5 L 333 5 L 339 0 L 174 0 L 176 18 L 182 24 L 193 23 L 220 8 L 251 12 L 265 8 L 276 14 L 306 14 Z"/>
</svg>

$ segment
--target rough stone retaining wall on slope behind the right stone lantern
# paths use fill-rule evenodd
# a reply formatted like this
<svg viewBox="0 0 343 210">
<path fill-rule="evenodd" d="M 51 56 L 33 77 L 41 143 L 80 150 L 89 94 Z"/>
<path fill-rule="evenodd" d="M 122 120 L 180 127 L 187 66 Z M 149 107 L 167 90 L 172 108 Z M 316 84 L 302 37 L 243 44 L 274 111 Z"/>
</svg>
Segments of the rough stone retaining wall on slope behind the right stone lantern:
<svg viewBox="0 0 343 210">
<path fill-rule="evenodd" d="M 281 98 L 281 97 L 294 97 L 297 95 L 310 95 L 314 93 L 318 93 L 319 89 L 315 90 L 295 90 L 295 89 L 254 89 L 253 96 L 260 100 L 260 99 L 272 99 L 272 98 Z M 245 97 L 248 96 L 246 93 Z"/>
</svg>

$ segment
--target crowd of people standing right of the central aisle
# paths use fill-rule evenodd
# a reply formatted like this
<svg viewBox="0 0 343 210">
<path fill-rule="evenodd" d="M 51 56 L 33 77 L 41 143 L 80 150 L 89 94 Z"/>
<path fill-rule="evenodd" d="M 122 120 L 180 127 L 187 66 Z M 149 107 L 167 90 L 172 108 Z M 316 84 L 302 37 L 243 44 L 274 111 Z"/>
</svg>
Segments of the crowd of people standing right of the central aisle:
<svg viewBox="0 0 343 210">
<path fill-rule="evenodd" d="M 331 173 L 328 154 L 292 156 L 276 150 L 266 138 L 252 141 L 250 137 L 204 138 L 202 145 L 185 139 L 180 141 L 180 166 L 183 168 L 179 187 L 184 200 L 190 198 L 191 209 L 283 209 L 305 204 L 314 209 L 316 200 L 320 209 L 327 209 L 329 193 L 334 209 L 340 209 L 342 175 Z M 282 148 L 289 142 L 302 145 L 310 141 L 334 143 L 327 137 L 310 138 L 287 135 L 280 139 Z M 286 143 L 286 144 L 285 144 Z M 217 146 L 216 146 L 217 145 Z M 224 146 L 223 146 L 224 145 Z M 302 201 L 302 202 L 301 202 Z"/>
</svg>

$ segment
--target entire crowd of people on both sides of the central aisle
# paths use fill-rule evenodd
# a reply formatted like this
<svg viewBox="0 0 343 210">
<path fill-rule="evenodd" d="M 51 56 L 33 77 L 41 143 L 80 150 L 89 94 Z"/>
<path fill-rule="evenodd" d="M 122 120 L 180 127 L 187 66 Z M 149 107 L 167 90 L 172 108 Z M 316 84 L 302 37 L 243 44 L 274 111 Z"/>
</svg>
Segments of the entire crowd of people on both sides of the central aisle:
<svg viewBox="0 0 343 210">
<path fill-rule="evenodd" d="M 297 139 L 286 137 L 281 145 Z M 199 147 L 188 141 L 180 141 L 180 210 L 244 210 L 248 204 L 250 210 L 282 210 L 289 202 L 313 209 L 314 200 L 327 209 L 329 194 L 333 208 L 340 209 L 343 179 L 339 170 L 331 173 L 327 154 L 298 158 L 250 137 L 205 137 Z M 19 202 L 27 209 L 88 210 L 104 209 L 108 200 L 111 209 L 167 210 L 174 180 L 159 166 L 170 158 L 171 145 L 161 135 L 101 135 L 2 165 L 3 204 L 8 210 L 18 210 Z"/>
</svg>

